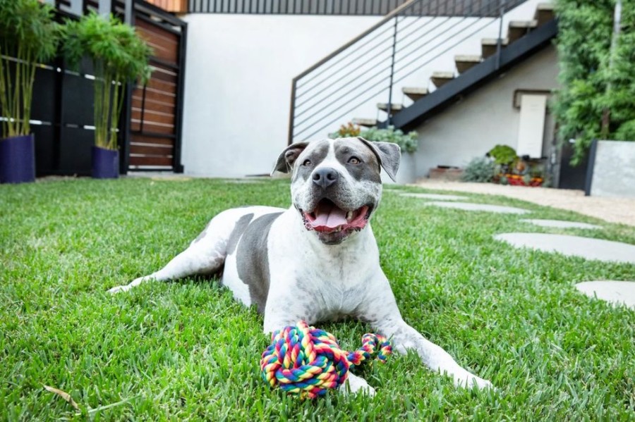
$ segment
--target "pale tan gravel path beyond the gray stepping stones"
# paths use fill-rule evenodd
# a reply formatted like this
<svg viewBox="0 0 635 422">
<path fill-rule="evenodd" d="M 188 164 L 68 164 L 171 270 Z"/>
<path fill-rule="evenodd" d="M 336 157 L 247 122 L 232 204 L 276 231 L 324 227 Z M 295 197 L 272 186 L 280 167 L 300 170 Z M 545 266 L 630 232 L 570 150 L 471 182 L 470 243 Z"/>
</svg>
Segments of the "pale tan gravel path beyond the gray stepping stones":
<svg viewBox="0 0 635 422">
<path fill-rule="evenodd" d="M 414 186 L 414 185 L 411 185 Z M 575 211 L 610 223 L 635 226 L 634 198 L 585 197 L 581 190 L 548 187 L 503 186 L 493 183 L 441 182 L 420 179 L 416 186 L 433 190 L 451 190 L 475 194 L 501 195 L 534 204 Z"/>
</svg>

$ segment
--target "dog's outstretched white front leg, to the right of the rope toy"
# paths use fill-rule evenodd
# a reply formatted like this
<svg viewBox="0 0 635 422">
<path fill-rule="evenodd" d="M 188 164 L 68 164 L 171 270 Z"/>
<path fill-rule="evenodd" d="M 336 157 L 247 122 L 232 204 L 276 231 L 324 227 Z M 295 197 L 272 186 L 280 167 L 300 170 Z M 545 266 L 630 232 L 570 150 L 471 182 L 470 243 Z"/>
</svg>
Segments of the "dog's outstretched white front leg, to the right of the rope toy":
<svg viewBox="0 0 635 422">
<path fill-rule="evenodd" d="M 408 325 L 397 308 L 394 294 L 388 280 L 382 273 L 382 279 L 377 280 L 376 287 L 369 288 L 369 297 L 361 306 L 359 318 L 368 321 L 377 332 L 392 338 L 394 350 L 406 353 L 408 350 L 417 352 L 421 361 L 433 371 L 452 376 L 454 385 L 461 387 L 479 388 L 492 387 L 488 380 L 483 380 L 462 368 L 452 359 L 442 347 L 435 345 Z M 382 311 L 377 312 L 378 309 Z"/>
</svg>

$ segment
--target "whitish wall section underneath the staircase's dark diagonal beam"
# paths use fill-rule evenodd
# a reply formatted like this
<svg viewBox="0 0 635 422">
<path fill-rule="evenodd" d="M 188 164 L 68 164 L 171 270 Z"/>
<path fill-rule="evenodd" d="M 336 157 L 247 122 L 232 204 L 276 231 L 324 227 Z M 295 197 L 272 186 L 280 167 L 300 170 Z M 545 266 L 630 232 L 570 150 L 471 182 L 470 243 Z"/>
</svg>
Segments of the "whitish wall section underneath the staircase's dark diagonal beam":
<svg viewBox="0 0 635 422">
<path fill-rule="evenodd" d="M 464 167 L 496 144 L 516 149 L 520 111 L 513 106 L 514 91 L 555 89 L 557 74 L 557 54 L 549 46 L 420 125 L 416 129 L 418 177 L 428 176 L 430 168 L 437 166 Z M 543 156 L 552 154 L 552 133 L 553 122 L 548 115 Z"/>
</svg>

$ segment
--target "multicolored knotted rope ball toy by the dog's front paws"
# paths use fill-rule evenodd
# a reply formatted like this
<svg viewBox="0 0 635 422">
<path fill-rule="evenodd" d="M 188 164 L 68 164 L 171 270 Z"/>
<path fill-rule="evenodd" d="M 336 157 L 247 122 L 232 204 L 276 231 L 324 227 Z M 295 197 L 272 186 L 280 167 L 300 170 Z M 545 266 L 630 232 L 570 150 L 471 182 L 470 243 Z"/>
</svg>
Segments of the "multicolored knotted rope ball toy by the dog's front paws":
<svg viewBox="0 0 635 422">
<path fill-rule="evenodd" d="M 279 385 L 286 392 L 310 399 L 343 384 L 351 365 L 359 365 L 373 354 L 385 362 L 392 353 L 389 340 L 375 334 L 363 335 L 362 347 L 346 352 L 334 335 L 310 327 L 305 321 L 274 331 L 271 341 L 260 359 L 262 379 L 272 388 Z M 377 345 L 380 349 L 375 352 Z"/>
</svg>

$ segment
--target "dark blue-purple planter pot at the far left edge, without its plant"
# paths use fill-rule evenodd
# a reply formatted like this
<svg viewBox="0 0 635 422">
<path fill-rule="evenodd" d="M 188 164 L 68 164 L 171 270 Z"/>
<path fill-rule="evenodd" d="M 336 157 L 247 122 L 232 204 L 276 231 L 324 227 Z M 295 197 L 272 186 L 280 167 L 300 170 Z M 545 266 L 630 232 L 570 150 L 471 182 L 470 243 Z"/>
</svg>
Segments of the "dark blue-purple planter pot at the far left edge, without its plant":
<svg viewBox="0 0 635 422">
<path fill-rule="evenodd" d="M 35 181 L 35 138 L 23 135 L 0 139 L 0 183 Z"/>
</svg>

